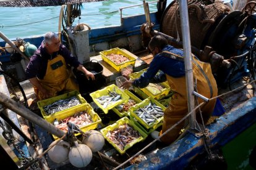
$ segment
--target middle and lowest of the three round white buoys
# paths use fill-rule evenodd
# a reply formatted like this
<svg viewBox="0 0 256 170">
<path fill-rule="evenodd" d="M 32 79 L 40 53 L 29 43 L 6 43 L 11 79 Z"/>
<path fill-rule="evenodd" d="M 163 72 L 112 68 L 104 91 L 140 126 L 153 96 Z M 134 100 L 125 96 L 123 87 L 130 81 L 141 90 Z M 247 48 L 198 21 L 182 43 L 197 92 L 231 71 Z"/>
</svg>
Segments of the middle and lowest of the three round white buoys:
<svg viewBox="0 0 256 170">
<path fill-rule="evenodd" d="M 69 162 L 77 167 L 84 168 L 92 161 L 92 151 L 85 144 L 78 144 L 75 142 L 75 146 L 70 149 Z"/>
</svg>

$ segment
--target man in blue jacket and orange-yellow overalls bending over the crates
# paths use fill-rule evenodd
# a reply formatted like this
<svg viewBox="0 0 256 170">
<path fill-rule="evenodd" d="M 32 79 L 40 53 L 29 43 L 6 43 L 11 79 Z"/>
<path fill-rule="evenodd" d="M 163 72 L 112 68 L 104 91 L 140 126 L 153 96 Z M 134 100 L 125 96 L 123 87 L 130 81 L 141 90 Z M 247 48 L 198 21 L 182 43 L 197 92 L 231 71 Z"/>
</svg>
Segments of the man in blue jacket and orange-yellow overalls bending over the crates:
<svg viewBox="0 0 256 170">
<path fill-rule="evenodd" d="M 148 47 L 154 58 L 147 71 L 145 71 L 140 78 L 134 79 L 134 81 L 125 81 L 121 87 L 124 89 L 129 89 L 130 86 L 143 88 L 147 87 L 149 83 L 168 81 L 174 94 L 169 102 L 169 106 L 164 111 L 161 132 L 154 131 L 151 134 L 152 137 L 158 138 L 158 135 L 163 134 L 163 132 L 167 131 L 188 113 L 184 53 L 181 49 L 176 49 L 168 45 L 166 38 L 160 35 L 151 38 Z M 194 82 L 197 83 L 197 92 L 208 99 L 216 97 L 218 95 L 218 89 L 215 78 L 211 73 L 210 63 L 200 62 L 200 60 L 193 55 L 192 67 Z M 157 74 L 159 70 L 161 70 L 160 74 Z M 191 86 L 193 86 L 193 84 L 191 84 Z M 202 99 L 198 99 L 198 103 L 202 102 Z M 215 103 L 216 100 L 210 100 L 210 102 L 205 103 L 205 105 L 200 108 L 202 110 L 203 123 L 207 123 L 213 112 Z M 200 116 L 197 116 L 197 118 L 200 118 Z M 202 123 L 200 119 L 197 119 L 197 121 Z M 184 124 L 183 121 L 161 137 L 161 142 L 165 144 L 174 142 L 179 136 L 179 132 L 184 127 Z"/>
</svg>

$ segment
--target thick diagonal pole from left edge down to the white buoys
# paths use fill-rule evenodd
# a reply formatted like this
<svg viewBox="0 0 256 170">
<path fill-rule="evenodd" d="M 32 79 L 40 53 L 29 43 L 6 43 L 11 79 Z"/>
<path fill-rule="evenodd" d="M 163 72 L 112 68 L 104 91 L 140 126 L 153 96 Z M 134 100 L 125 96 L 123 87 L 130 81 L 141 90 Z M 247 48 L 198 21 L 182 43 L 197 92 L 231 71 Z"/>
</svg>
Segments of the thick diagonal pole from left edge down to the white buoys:
<svg viewBox="0 0 256 170">
<path fill-rule="evenodd" d="M 51 123 L 48 123 L 48 121 L 36 115 L 32 111 L 28 110 L 20 103 L 17 103 L 11 98 L 7 97 L 7 95 L 5 95 L 2 92 L 0 92 L 0 103 L 2 104 L 3 107 L 9 108 L 10 110 L 14 111 L 15 113 L 22 116 L 23 118 L 28 119 L 28 121 L 31 121 L 32 123 L 37 124 L 42 129 L 45 129 L 49 133 L 54 134 L 59 138 L 64 136 L 64 132 L 61 131 L 61 129 L 58 129 L 57 127 L 53 126 L 53 124 Z"/>
</svg>

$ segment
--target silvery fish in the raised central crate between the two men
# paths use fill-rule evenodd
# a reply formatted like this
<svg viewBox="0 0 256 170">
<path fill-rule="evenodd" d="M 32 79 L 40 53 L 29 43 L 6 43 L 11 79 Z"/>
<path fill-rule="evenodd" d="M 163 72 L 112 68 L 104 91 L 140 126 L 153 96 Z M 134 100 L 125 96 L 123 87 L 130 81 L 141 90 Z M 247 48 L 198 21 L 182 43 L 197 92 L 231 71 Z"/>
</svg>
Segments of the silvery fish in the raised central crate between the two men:
<svg viewBox="0 0 256 170">
<path fill-rule="evenodd" d="M 103 108 L 106 108 L 111 103 L 117 102 L 121 99 L 121 94 L 117 94 L 115 91 L 108 91 L 108 94 L 109 95 L 102 95 L 96 99 L 101 105 L 103 105 Z"/>
</svg>

